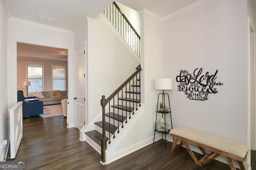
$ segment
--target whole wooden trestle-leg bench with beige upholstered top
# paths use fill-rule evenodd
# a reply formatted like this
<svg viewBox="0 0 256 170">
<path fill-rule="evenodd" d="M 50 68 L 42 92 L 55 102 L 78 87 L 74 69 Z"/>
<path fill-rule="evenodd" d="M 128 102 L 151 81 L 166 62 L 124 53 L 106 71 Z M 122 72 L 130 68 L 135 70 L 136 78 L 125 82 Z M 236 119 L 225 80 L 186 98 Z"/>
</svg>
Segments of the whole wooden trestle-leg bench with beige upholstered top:
<svg viewBox="0 0 256 170">
<path fill-rule="evenodd" d="M 217 156 L 224 155 L 228 160 L 231 170 L 236 170 L 232 159 L 238 161 L 241 170 L 245 170 L 243 162 L 247 156 L 248 147 L 242 143 L 204 134 L 184 127 L 172 129 L 169 135 L 174 137 L 174 142 L 170 152 L 173 153 L 176 147 L 182 147 L 184 144 L 194 162 L 199 166 L 204 166 Z M 177 145 L 179 139 L 181 142 Z M 201 150 L 204 156 L 200 160 L 196 158 L 188 143 L 198 146 Z M 207 154 L 204 149 L 208 149 L 212 152 Z"/>
</svg>

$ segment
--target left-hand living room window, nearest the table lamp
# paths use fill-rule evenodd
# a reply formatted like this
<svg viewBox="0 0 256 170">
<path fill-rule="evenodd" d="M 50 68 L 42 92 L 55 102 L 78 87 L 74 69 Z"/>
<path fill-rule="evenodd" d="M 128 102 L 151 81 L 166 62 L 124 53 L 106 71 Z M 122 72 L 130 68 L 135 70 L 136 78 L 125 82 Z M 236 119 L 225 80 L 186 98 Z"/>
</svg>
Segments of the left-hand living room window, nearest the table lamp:
<svg viewBox="0 0 256 170">
<path fill-rule="evenodd" d="M 27 63 L 27 73 L 31 83 L 28 93 L 43 91 L 43 64 Z"/>
</svg>

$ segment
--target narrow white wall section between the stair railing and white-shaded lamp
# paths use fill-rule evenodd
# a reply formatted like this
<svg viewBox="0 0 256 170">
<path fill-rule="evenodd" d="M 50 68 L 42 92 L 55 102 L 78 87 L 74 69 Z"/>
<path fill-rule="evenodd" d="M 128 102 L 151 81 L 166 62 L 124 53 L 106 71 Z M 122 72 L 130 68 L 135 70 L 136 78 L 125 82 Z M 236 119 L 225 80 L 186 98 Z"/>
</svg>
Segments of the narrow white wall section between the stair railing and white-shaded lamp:
<svg viewBox="0 0 256 170">
<path fill-rule="evenodd" d="M 142 103 L 145 103 L 144 122 L 141 122 L 145 128 L 140 130 L 140 140 L 153 137 L 157 97 L 160 90 L 154 90 L 154 79 L 162 78 L 162 27 L 157 16 L 147 10 L 141 12 L 141 67 L 142 67 Z M 154 43 L 152 43 L 154 42 Z M 159 117 L 159 115 L 158 115 Z M 150 130 L 151 129 L 151 130 Z M 159 134 L 156 133 L 156 140 Z M 153 138 L 152 138 L 153 142 Z"/>
</svg>

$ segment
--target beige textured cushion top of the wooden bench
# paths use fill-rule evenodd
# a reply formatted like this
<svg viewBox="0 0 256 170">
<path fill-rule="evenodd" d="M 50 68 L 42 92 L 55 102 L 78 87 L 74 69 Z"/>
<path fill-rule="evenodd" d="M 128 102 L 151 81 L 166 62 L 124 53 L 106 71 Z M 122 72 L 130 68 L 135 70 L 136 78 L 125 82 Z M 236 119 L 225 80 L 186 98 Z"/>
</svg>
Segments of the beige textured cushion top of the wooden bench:
<svg viewBox="0 0 256 170">
<path fill-rule="evenodd" d="M 242 143 L 208 135 L 184 127 L 174 128 L 170 131 L 170 134 L 174 134 L 189 139 L 191 141 L 195 141 L 208 147 L 222 150 L 223 152 L 227 152 L 241 158 L 244 158 L 248 153 L 248 147 Z"/>
</svg>

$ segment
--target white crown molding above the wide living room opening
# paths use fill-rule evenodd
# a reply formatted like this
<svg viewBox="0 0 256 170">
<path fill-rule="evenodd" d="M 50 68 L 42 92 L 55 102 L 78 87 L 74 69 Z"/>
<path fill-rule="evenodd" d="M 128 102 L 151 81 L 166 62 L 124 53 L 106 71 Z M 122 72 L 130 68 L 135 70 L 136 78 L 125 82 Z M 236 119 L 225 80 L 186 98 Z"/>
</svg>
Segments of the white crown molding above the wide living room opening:
<svg viewBox="0 0 256 170">
<path fill-rule="evenodd" d="M 48 26 L 48 25 L 43 25 L 40 23 L 31 22 L 31 21 L 20 20 L 18 18 L 10 17 L 8 21 L 13 21 L 13 22 L 31 25 L 31 26 L 35 26 L 35 27 L 40 27 L 40 28 L 44 28 L 44 29 L 51 29 L 53 31 L 59 31 L 59 32 L 68 33 L 68 34 L 73 35 L 73 31 L 68 31 L 66 29 L 60 29 L 60 28 L 56 28 L 56 27 L 52 27 L 52 26 Z"/>
</svg>

